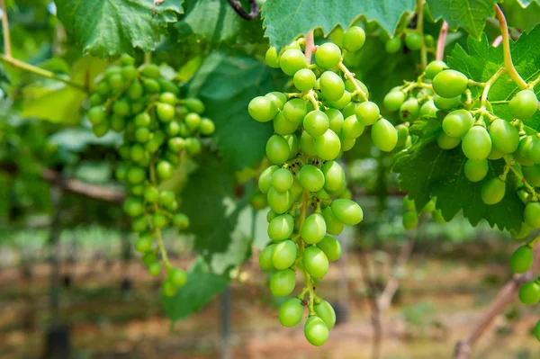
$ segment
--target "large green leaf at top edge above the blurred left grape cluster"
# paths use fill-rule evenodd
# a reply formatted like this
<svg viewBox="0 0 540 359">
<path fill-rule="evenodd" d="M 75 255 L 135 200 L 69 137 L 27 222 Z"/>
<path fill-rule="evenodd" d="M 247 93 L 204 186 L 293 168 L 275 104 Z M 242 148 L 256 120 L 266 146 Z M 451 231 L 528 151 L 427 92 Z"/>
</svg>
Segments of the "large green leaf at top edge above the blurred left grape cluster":
<svg viewBox="0 0 540 359">
<path fill-rule="evenodd" d="M 112 58 L 156 48 L 167 24 L 183 13 L 182 0 L 155 6 L 151 0 L 56 0 L 58 18 L 85 53 Z"/>
</svg>

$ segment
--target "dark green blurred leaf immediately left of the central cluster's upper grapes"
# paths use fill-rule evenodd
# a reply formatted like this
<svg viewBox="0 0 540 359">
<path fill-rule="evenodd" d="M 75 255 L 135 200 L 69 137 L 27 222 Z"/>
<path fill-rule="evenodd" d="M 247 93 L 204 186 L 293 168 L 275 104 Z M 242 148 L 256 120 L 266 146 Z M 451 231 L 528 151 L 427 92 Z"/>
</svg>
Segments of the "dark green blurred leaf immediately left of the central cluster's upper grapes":
<svg viewBox="0 0 540 359">
<path fill-rule="evenodd" d="M 220 153 L 235 169 L 260 162 L 273 132 L 272 123 L 249 117 L 247 105 L 283 85 L 281 71 L 238 51 L 212 52 L 193 76 L 188 94 L 206 105 L 205 115 L 216 123 L 214 139 Z"/>
</svg>

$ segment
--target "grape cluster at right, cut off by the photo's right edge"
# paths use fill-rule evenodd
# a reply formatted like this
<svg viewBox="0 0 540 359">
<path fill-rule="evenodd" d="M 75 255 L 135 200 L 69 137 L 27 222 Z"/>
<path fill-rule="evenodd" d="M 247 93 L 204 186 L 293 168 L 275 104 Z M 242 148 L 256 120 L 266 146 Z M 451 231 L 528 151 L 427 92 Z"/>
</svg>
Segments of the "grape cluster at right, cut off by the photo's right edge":
<svg viewBox="0 0 540 359">
<path fill-rule="evenodd" d="M 515 94 L 509 102 L 514 121 L 505 121 L 492 112 L 487 96 L 473 99 L 470 85 L 478 84 L 461 72 L 448 69 L 443 61 L 433 61 L 417 82 L 392 89 L 385 96 L 384 105 L 399 111 L 401 120 L 408 122 L 435 118 L 438 111 L 445 112 L 437 145 L 445 150 L 461 145 L 467 157 L 464 175 L 474 183 L 483 181 L 481 196 L 485 204 L 493 205 L 504 198 L 510 170 L 522 179 L 517 191 L 526 204 L 524 224 L 515 235 L 523 238 L 532 229 L 540 228 L 540 202 L 535 189 L 540 186 L 540 137 L 523 130 L 523 121 L 536 113 L 536 94 L 530 89 Z M 484 180 L 489 173 L 489 161 L 501 158 L 507 164 L 504 173 Z"/>
</svg>

